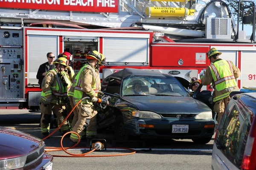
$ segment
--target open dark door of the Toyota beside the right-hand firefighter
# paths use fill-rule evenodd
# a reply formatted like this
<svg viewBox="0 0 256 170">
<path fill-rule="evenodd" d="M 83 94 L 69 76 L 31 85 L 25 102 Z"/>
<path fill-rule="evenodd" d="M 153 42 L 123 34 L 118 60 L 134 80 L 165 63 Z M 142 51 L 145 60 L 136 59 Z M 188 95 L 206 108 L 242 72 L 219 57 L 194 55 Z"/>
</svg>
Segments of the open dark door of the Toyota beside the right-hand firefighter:
<svg viewBox="0 0 256 170">
<path fill-rule="evenodd" d="M 201 91 L 201 88 L 203 87 L 202 84 L 198 86 L 192 97 L 196 100 L 199 100 L 203 103 L 205 103 L 210 109 L 213 110 L 214 103 L 212 102 L 212 94 L 211 91 Z"/>
</svg>

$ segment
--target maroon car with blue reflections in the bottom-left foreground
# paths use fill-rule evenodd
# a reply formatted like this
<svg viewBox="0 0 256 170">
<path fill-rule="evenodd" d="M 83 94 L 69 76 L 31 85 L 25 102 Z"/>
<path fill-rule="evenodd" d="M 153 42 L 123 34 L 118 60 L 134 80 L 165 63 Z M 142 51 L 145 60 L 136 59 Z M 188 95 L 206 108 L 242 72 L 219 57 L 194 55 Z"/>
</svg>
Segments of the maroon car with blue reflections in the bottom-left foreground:
<svg viewBox="0 0 256 170">
<path fill-rule="evenodd" d="M 52 170 L 52 159 L 41 139 L 0 127 L 0 170 Z"/>
</svg>

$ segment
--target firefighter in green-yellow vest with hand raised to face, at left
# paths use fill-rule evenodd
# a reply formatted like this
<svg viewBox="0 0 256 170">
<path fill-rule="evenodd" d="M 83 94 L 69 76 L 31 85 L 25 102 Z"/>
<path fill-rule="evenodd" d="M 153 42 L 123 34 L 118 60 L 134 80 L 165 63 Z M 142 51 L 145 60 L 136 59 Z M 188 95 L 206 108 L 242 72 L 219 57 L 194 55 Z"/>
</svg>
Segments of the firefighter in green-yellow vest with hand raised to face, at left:
<svg viewBox="0 0 256 170">
<path fill-rule="evenodd" d="M 67 67 L 66 63 L 67 59 L 58 58 L 56 62 L 53 62 L 55 68 L 47 72 L 42 82 L 41 133 L 45 136 L 49 134 L 52 112 L 57 116 L 58 125 L 64 120 L 62 112 L 65 110 L 64 101 L 67 100 L 67 82 L 65 82 L 64 74 L 61 71 Z M 61 126 L 61 132 L 66 133 L 68 131 L 70 131 L 70 127 L 67 122 L 64 122 Z"/>
</svg>

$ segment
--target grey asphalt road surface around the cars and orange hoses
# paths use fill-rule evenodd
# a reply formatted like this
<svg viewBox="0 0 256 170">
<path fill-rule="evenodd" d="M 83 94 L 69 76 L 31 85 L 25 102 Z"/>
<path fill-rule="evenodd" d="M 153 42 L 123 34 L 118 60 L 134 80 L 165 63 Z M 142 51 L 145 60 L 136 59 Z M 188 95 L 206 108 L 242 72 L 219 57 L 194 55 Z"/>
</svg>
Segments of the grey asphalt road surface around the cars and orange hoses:
<svg viewBox="0 0 256 170">
<path fill-rule="evenodd" d="M 0 110 L 0 126 L 17 129 L 38 138 L 41 136 L 39 125 L 40 112 L 28 110 Z M 51 130 L 51 132 L 53 129 Z M 211 170 L 212 145 L 214 136 L 208 144 L 194 144 L 190 139 L 148 139 L 129 142 L 116 142 L 111 130 L 101 131 L 99 138 L 107 140 L 107 150 L 96 151 L 88 156 L 116 155 L 132 151 L 111 149 L 126 147 L 137 150 L 127 156 L 63 158 L 54 157 L 54 170 Z M 57 131 L 45 139 L 48 147 L 60 147 L 61 134 Z M 69 138 L 64 138 L 63 146 L 71 146 Z M 90 147 L 89 142 L 81 142 L 80 147 Z M 86 153 L 89 149 L 73 149 L 69 152 Z M 67 155 L 63 151 L 50 152 L 54 155 Z"/>
</svg>

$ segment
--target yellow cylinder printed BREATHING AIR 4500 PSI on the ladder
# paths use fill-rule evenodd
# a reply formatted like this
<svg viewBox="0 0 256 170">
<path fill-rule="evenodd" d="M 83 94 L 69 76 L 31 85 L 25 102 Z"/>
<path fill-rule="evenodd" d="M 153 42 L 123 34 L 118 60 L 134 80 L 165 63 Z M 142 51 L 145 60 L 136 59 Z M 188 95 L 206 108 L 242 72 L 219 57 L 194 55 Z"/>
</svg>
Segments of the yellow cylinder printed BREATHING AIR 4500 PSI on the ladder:
<svg viewBox="0 0 256 170">
<path fill-rule="evenodd" d="M 148 17 L 186 17 L 195 15 L 195 9 L 147 7 L 145 13 Z"/>
</svg>

